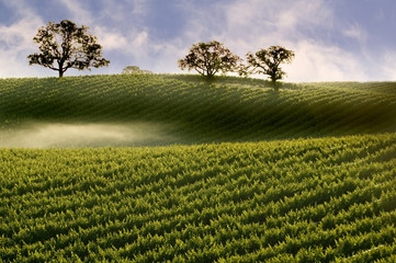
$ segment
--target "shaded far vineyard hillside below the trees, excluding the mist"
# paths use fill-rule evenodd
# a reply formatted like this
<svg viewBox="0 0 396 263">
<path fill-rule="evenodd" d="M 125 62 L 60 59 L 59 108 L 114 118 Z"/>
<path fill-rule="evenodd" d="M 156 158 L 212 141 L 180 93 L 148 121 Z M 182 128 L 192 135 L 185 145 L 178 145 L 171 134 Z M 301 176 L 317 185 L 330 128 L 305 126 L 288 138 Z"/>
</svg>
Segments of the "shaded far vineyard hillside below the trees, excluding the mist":
<svg viewBox="0 0 396 263">
<path fill-rule="evenodd" d="M 375 134 L 396 130 L 396 83 L 285 84 L 275 93 L 264 80 L 235 77 L 211 84 L 172 75 L 0 80 L 0 141 L 36 123 L 142 125 L 120 137 L 157 133 L 115 146 Z"/>
</svg>

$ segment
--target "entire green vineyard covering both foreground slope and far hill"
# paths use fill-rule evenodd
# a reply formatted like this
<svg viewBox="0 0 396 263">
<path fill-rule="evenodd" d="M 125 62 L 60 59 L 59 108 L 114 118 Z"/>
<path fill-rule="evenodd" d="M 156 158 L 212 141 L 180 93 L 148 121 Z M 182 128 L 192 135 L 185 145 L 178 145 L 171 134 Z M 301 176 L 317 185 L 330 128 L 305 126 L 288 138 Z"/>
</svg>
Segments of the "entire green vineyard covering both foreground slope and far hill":
<svg viewBox="0 0 396 263">
<path fill-rule="evenodd" d="M 0 262 L 396 262 L 395 222 L 396 82 L 0 79 Z"/>
</svg>

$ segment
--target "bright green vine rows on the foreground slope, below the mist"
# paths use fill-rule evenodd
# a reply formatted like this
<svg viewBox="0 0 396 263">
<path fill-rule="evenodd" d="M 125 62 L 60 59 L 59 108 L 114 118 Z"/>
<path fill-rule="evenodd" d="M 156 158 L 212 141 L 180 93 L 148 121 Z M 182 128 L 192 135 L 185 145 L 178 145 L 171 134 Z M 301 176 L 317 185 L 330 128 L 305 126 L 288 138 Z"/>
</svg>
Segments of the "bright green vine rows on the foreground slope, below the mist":
<svg viewBox="0 0 396 263">
<path fill-rule="evenodd" d="M 395 152 L 395 134 L 0 149 L 0 260 L 392 262 Z"/>
</svg>

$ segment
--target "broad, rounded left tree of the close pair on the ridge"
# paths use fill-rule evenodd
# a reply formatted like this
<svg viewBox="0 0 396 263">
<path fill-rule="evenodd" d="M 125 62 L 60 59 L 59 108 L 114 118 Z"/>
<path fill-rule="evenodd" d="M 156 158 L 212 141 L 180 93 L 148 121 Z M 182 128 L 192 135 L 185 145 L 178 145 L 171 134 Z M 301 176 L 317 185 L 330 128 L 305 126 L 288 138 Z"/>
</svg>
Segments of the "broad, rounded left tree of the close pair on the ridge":
<svg viewBox="0 0 396 263">
<path fill-rule="evenodd" d="M 238 62 L 241 59 L 217 41 L 196 43 L 189 54 L 179 59 L 179 67 L 184 70 L 196 70 L 200 75 L 208 78 L 218 72 L 238 71 Z"/>
</svg>

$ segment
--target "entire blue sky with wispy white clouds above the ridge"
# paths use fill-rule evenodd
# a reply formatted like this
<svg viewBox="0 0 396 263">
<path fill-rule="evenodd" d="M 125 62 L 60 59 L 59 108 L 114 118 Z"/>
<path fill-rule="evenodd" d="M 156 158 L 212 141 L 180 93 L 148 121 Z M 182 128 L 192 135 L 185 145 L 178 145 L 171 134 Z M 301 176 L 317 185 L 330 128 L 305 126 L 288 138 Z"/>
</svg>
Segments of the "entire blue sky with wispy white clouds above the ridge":
<svg viewBox="0 0 396 263">
<path fill-rule="evenodd" d="M 126 66 L 188 73 L 178 59 L 218 41 L 241 58 L 272 45 L 294 50 L 285 81 L 396 80 L 395 0 L 0 0 L 0 78 L 56 77 L 26 56 L 38 52 L 41 26 L 65 19 L 89 26 L 111 61 L 65 76 Z"/>
</svg>

